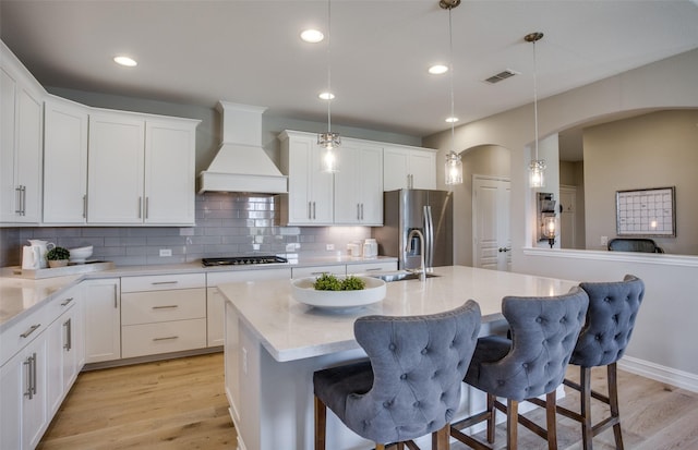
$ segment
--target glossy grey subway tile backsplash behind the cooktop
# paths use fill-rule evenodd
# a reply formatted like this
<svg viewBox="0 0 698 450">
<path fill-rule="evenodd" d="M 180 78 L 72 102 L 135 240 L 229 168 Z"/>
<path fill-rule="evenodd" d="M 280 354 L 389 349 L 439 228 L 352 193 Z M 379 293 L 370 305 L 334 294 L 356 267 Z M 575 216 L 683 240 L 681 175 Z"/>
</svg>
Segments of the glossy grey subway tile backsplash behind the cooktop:
<svg viewBox="0 0 698 450">
<path fill-rule="evenodd" d="M 191 263 L 202 257 L 263 253 L 335 255 L 371 236 L 368 227 L 280 227 L 274 197 L 206 193 L 196 196 L 195 227 L 0 228 L 0 267 L 19 266 L 28 239 L 67 248 L 93 245 L 91 259 L 117 266 Z M 289 244 L 294 244 L 290 245 Z M 327 244 L 334 251 L 327 251 Z M 160 250 L 172 256 L 160 257 Z"/>
</svg>

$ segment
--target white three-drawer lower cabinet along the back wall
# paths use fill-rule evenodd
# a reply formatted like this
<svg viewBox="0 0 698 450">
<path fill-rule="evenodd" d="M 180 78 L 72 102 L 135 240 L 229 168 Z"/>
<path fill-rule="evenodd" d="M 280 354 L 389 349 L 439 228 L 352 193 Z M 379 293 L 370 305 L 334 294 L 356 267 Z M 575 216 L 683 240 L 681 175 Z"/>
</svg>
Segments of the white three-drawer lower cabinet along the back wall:
<svg viewBox="0 0 698 450">
<path fill-rule="evenodd" d="M 206 275 L 121 279 L 121 356 L 206 346 Z"/>
</svg>

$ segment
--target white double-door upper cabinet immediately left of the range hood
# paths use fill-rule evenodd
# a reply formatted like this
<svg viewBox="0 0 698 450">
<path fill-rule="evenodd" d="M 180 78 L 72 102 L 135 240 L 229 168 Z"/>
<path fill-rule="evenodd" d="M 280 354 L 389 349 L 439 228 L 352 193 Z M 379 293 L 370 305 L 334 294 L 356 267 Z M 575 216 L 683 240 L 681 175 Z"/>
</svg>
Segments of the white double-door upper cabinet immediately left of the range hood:
<svg viewBox="0 0 698 450">
<path fill-rule="evenodd" d="M 194 224 L 197 124 L 119 111 L 91 113 L 87 221 Z"/>
</svg>

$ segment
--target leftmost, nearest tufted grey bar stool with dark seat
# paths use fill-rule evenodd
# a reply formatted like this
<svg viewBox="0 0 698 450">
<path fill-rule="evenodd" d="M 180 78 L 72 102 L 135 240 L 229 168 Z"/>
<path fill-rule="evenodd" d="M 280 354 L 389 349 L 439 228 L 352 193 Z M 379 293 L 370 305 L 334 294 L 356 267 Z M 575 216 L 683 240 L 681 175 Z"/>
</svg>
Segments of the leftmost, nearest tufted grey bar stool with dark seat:
<svg viewBox="0 0 698 450">
<path fill-rule="evenodd" d="M 448 449 L 449 422 L 480 332 L 480 306 L 421 316 L 365 316 L 354 336 L 369 361 L 313 374 L 315 450 L 325 449 L 326 409 L 376 449 L 432 435 Z"/>
</svg>

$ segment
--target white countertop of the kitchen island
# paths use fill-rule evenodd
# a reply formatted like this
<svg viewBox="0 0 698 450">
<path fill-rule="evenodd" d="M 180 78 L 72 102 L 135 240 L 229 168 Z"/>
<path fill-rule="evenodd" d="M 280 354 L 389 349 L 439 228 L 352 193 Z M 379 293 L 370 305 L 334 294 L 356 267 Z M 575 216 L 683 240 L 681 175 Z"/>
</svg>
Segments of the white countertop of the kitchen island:
<svg viewBox="0 0 698 450">
<path fill-rule="evenodd" d="M 480 304 L 483 321 L 502 318 L 506 295 L 550 296 L 566 293 L 577 281 L 465 266 L 434 268 L 440 277 L 426 281 L 387 283 L 386 297 L 362 308 L 336 312 L 317 309 L 293 300 L 289 280 L 218 285 L 240 319 L 279 362 L 357 349 L 357 317 L 433 314 L 453 309 L 469 299 Z"/>
</svg>

